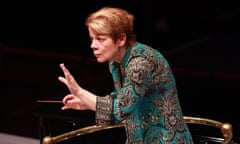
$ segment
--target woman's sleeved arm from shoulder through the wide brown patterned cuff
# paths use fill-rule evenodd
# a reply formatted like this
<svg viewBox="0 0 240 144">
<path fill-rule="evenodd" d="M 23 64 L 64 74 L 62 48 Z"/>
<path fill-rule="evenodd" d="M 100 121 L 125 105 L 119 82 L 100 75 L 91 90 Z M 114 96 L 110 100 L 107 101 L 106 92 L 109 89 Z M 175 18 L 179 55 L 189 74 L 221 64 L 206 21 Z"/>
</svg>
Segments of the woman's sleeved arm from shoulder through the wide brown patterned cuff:
<svg viewBox="0 0 240 144">
<path fill-rule="evenodd" d="M 137 108 L 144 95 L 152 89 L 152 72 L 147 60 L 135 57 L 126 70 L 127 82 L 120 90 L 111 96 L 98 97 L 96 110 L 98 124 L 108 125 L 126 119 Z"/>
</svg>

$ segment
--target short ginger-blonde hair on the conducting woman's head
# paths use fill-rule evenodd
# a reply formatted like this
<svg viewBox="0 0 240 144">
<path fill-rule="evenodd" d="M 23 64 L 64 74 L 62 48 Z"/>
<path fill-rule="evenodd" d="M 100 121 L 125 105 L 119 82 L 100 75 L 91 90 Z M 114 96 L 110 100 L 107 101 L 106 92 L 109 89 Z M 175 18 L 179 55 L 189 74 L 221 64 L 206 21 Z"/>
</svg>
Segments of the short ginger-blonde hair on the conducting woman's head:
<svg viewBox="0 0 240 144">
<path fill-rule="evenodd" d="M 131 46 L 136 41 L 133 31 L 134 16 L 124 9 L 103 7 L 90 14 L 85 24 L 96 33 L 109 34 L 114 41 L 125 33 L 126 46 Z"/>
</svg>

